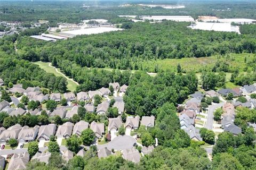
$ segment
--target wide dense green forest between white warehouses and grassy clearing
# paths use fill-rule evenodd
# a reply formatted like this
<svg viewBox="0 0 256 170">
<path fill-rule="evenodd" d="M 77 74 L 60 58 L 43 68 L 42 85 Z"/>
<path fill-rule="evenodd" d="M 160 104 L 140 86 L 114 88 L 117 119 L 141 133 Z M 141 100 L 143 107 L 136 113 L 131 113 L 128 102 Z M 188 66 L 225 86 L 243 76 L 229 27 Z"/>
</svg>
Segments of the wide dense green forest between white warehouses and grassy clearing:
<svg viewBox="0 0 256 170">
<path fill-rule="evenodd" d="M 191 30 L 187 22 L 132 23 L 131 29 L 77 36 L 56 43 L 18 42 L 21 51 L 33 50 L 37 60 L 69 60 L 82 67 L 142 70 L 142 62 L 157 58 L 203 57 L 227 53 L 255 53 L 254 36 L 231 32 Z M 40 40 L 37 40 L 40 41 Z M 42 55 L 43 54 L 43 55 Z"/>
</svg>

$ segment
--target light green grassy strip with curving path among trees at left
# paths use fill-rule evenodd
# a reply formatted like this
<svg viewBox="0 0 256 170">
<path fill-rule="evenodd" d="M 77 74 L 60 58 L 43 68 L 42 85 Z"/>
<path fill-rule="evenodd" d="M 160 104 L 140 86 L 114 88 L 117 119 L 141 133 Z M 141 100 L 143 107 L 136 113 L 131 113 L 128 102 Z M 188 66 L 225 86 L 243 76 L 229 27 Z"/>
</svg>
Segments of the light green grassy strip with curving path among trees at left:
<svg viewBox="0 0 256 170">
<path fill-rule="evenodd" d="M 44 62 L 35 62 L 35 64 L 39 65 L 39 67 L 43 70 L 45 70 L 47 73 L 53 73 L 55 76 L 61 76 L 64 77 L 62 74 L 58 73 L 54 67 L 50 66 L 49 63 L 44 63 Z M 60 69 L 58 69 L 58 71 L 60 72 Z M 65 77 L 64 77 L 65 78 Z M 77 84 L 72 81 L 72 80 L 68 80 L 68 90 L 70 91 L 74 91 L 76 90 Z"/>
</svg>

